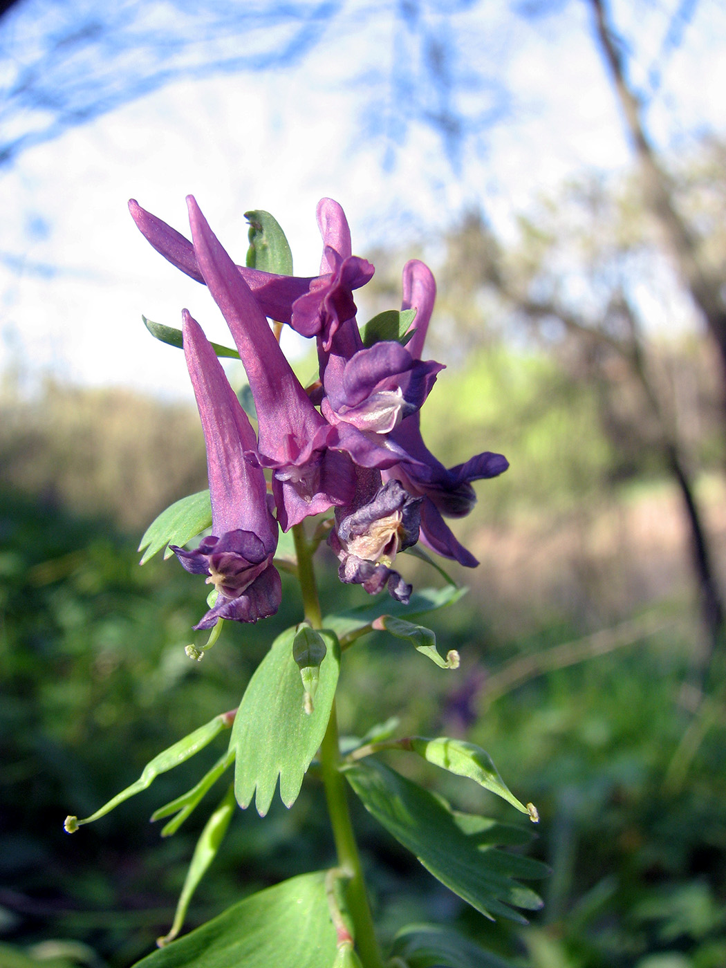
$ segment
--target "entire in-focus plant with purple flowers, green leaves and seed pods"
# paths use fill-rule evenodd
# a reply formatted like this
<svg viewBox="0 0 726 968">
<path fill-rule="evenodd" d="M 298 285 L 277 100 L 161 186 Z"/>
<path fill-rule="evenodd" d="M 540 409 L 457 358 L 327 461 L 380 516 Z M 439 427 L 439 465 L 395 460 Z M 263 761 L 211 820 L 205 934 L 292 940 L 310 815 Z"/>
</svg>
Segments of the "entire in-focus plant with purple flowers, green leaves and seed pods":
<svg viewBox="0 0 726 968">
<path fill-rule="evenodd" d="M 475 566 L 444 519 L 469 513 L 476 499 L 472 481 L 507 468 L 504 457 L 486 451 L 446 469 L 422 439 L 419 411 L 442 369 L 422 358 L 436 296 L 434 277 L 423 262 L 409 261 L 401 309 L 359 328 L 353 292 L 371 279 L 374 268 L 352 255 L 348 222 L 336 202 L 323 198 L 318 204 L 319 275 L 299 278 L 292 275 L 285 235 L 268 213 L 248 213 L 251 245 L 246 265 L 238 266 L 194 197 L 187 200 L 191 241 L 136 201 L 130 208 L 151 245 L 208 287 L 236 350 L 211 344 L 186 310 L 181 331 L 145 320 L 153 335 L 184 349 L 206 444 L 209 491 L 177 501 L 157 518 L 141 541 L 141 563 L 166 547 L 166 556 L 173 553 L 211 586 L 207 610 L 195 626 L 210 630 L 209 639 L 201 648 L 188 647 L 192 658 L 200 659 L 218 640 L 226 621 L 273 615 L 284 593 L 281 570 L 298 582 L 304 615 L 273 642 L 238 709 L 221 713 L 160 753 L 135 784 L 91 817 L 69 817 L 66 830 L 103 816 L 230 730 L 220 760 L 189 793 L 152 818 L 171 816 L 163 832 L 175 832 L 216 781 L 234 769 L 233 783 L 201 833 L 174 923 L 159 939 L 161 950 L 140 964 L 493 964 L 491 956 L 434 925 L 404 929 L 383 953 L 347 787 L 442 884 L 488 918 L 520 922 L 524 918 L 516 909 L 533 910 L 541 902 L 518 879 L 540 877 L 545 868 L 500 847 L 526 842 L 527 832 L 453 810 L 378 754 L 402 750 L 422 757 L 493 791 L 533 821 L 536 810 L 517 800 L 489 755 L 468 742 L 400 737 L 396 721 L 389 720 L 342 745 L 335 707 L 345 652 L 373 630 L 408 640 L 442 669 L 458 667 L 458 654 L 450 650 L 442 656 L 434 633 L 418 620 L 453 604 L 464 590 L 437 566 L 446 584 L 414 592 L 398 570 L 399 556 L 415 550 L 431 561 L 420 549 L 424 546 Z M 316 341 L 319 378 L 311 386 L 300 383 L 280 347 L 286 324 Z M 238 356 L 246 371 L 257 429 L 219 362 L 219 356 L 230 355 Z M 314 568 L 323 541 L 339 561 L 340 580 L 373 596 L 366 604 L 323 615 Z M 264 816 L 279 782 L 280 797 L 291 807 L 308 771 L 322 780 L 337 865 L 247 897 L 174 940 L 236 804 L 245 809 L 255 799 Z"/>
</svg>

